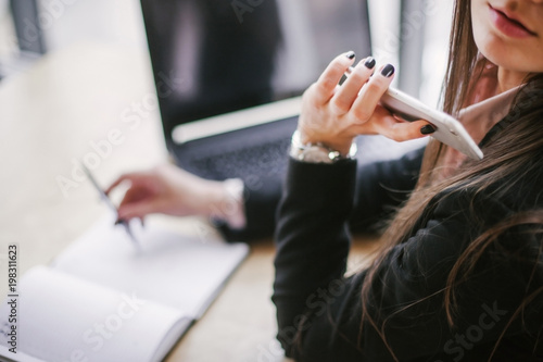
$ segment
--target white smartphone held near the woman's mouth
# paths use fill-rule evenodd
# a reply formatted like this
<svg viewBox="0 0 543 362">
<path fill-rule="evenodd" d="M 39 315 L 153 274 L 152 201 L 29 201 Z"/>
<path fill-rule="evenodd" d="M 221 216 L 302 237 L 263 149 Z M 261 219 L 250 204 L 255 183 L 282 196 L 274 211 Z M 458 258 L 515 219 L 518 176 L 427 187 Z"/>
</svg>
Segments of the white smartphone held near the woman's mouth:
<svg viewBox="0 0 543 362">
<path fill-rule="evenodd" d="M 483 154 L 462 123 L 451 115 L 431 109 L 418 99 L 413 98 L 397 89 L 389 87 L 381 97 L 381 104 L 391 113 L 405 121 L 426 120 L 430 122 L 435 132 L 433 138 L 460 151 L 467 157 L 481 160 Z"/>
</svg>

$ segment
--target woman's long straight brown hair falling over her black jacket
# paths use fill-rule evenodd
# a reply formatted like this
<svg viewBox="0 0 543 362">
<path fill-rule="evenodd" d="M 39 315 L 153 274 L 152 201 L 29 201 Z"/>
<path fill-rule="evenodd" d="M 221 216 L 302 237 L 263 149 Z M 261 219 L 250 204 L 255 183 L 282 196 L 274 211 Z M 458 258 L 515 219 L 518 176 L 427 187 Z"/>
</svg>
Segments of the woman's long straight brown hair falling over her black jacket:
<svg viewBox="0 0 543 362">
<path fill-rule="evenodd" d="M 457 114 L 466 105 L 472 90 L 471 85 L 482 74 L 482 62 L 478 61 L 480 57 L 472 37 L 470 4 L 470 0 L 455 2 L 450 60 L 443 86 L 443 109 L 450 114 Z M 487 141 L 483 148 L 484 159 L 465 161 L 455 174 L 446 179 L 437 176 L 446 146 L 434 140 L 429 142 L 425 151 L 417 186 L 386 229 L 382 238 L 383 248 L 367 270 L 368 274 L 362 288 L 362 323 L 358 338 L 362 338 L 363 326 L 375 328 L 394 357 L 393 350 L 387 342 L 384 332 L 387 319 L 377 322 L 381 317 L 370 315 L 369 305 L 375 302 L 370 300 L 370 289 L 374 283 L 379 283 L 377 274 L 388 252 L 416 232 L 417 223 L 424 212 L 430 208 L 432 199 L 439 195 L 454 195 L 466 189 L 472 190 L 473 195 L 491 189 L 494 197 L 503 198 L 509 195 L 510 190 L 521 186 L 525 182 L 523 175 L 533 176 L 543 173 L 543 75 L 532 74 L 526 79 L 526 85 L 520 88 L 502 124 L 504 129 L 500 133 L 500 137 L 493 137 Z M 539 179 L 543 179 L 543 177 L 539 177 Z M 533 198 L 533 194 L 531 197 Z M 534 203 L 533 200 L 527 200 L 526 204 L 529 202 Z M 468 205 L 466 212 L 473 211 Z M 473 217 L 477 215 L 473 214 Z M 469 273 L 473 271 L 483 252 L 498 239 L 500 235 L 521 225 L 528 227 L 531 235 L 541 237 L 543 211 L 530 209 L 508 216 L 506 220 L 497 221 L 470 241 L 467 250 L 456 260 L 446 284 L 440 291 L 443 295 L 443 307 L 451 327 L 454 326 L 455 321 L 456 287 L 469 278 Z M 541 271 L 543 267 L 539 264 L 541 255 L 541 251 L 533 255 L 531 263 L 534 271 Z M 527 280 L 527 284 L 530 283 L 532 280 Z M 533 288 L 533 286 L 531 287 Z M 507 326 L 521 314 L 533 298 L 542 294 L 541 289 L 535 286 L 535 290 L 525 296 L 523 302 L 513 313 Z M 396 313 L 401 313 L 409 305 L 401 309 L 399 307 Z M 505 330 L 503 330 L 489 360 L 492 359 L 504 334 Z"/>
</svg>

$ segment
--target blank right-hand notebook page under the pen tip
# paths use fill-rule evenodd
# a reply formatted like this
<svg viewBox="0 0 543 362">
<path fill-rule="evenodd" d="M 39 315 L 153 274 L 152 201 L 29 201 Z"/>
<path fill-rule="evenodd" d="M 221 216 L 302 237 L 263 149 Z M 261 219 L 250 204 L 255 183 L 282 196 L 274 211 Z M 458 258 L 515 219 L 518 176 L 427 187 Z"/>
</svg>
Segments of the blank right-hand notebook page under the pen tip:
<svg viewBox="0 0 543 362">
<path fill-rule="evenodd" d="M 199 319 L 245 258 L 248 246 L 148 226 L 132 228 L 138 249 L 122 226 L 103 220 L 62 252 L 53 267 Z"/>
</svg>

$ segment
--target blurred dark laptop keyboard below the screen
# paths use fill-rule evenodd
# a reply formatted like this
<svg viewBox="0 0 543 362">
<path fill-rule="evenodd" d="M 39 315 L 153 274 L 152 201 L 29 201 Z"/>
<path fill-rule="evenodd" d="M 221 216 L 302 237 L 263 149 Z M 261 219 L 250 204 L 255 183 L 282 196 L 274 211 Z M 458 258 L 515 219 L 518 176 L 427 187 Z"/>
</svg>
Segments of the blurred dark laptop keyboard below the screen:
<svg viewBox="0 0 543 362">
<path fill-rule="evenodd" d="M 255 177 L 278 176 L 285 173 L 288 162 L 290 137 L 267 143 L 247 147 L 220 154 L 197 159 L 191 166 L 205 170 L 205 178 L 224 179 L 239 177 L 251 180 Z"/>
</svg>

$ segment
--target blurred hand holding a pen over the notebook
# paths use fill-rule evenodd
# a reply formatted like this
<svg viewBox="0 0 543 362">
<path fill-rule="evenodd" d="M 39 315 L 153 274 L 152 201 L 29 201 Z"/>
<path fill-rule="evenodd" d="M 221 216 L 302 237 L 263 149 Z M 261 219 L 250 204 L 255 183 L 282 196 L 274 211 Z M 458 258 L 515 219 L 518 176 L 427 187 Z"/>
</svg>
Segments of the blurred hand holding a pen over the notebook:
<svg viewBox="0 0 543 362">
<path fill-rule="evenodd" d="M 143 219 L 151 213 L 220 217 L 227 210 L 223 203 L 231 201 L 224 183 L 200 178 L 174 165 L 122 175 L 105 192 L 125 182 L 129 186 L 118 207 L 119 220 Z"/>
</svg>

